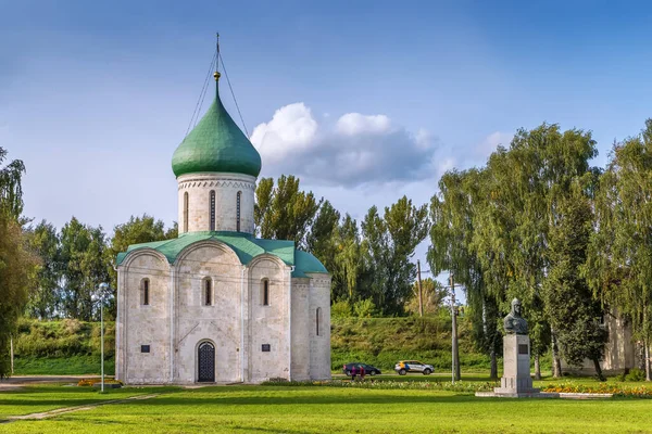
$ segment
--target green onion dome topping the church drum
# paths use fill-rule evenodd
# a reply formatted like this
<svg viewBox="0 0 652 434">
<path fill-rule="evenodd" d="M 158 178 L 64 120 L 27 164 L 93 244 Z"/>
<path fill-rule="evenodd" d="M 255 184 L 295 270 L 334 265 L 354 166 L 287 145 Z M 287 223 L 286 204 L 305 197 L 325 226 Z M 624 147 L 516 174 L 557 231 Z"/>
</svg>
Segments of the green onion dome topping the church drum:
<svg viewBox="0 0 652 434">
<path fill-rule="evenodd" d="M 217 91 L 199 124 L 172 156 L 172 170 L 179 177 L 202 171 L 226 171 L 258 177 L 261 156 L 230 117 Z"/>
</svg>

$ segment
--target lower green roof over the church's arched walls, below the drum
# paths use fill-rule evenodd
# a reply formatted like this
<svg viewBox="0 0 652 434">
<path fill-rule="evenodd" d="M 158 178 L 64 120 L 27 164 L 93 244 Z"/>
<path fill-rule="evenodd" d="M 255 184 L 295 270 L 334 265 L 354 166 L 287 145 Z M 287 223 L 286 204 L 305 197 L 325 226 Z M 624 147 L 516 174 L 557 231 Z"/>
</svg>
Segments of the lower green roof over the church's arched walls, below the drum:
<svg viewBox="0 0 652 434">
<path fill-rule="evenodd" d="M 116 263 L 121 265 L 130 252 L 141 248 L 153 248 L 165 256 L 170 264 L 173 264 L 184 248 L 190 244 L 206 240 L 220 241 L 228 245 L 238 255 L 240 263 L 243 265 L 248 265 L 259 255 L 271 254 L 278 257 L 286 265 L 294 266 L 294 271 L 292 272 L 292 277 L 294 278 L 308 277 L 306 273 L 311 272 L 328 272 L 319 259 L 310 253 L 296 250 L 293 241 L 262 240 L 243 232 L 188 232 L 172 240 L 133 244 L 126 252 L 117 254 Z"/>
</svg>

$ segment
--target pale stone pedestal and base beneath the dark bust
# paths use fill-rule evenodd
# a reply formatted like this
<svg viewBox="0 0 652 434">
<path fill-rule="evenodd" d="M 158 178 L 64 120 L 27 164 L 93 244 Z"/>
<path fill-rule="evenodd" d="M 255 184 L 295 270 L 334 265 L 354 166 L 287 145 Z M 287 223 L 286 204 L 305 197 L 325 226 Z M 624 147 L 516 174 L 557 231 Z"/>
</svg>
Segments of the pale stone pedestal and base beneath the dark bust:
<svg viewBox="0 0 652 434">
<path fill-rule="evenodd" d="M 476 396 L 498 398 L 559 398 L 556 393 L 541 393 L 532 387 L 529 370 L 529 337 L 507 334 L 503 337 L 503 376 L 493 392 L 477 392 Z"/>
</svg>

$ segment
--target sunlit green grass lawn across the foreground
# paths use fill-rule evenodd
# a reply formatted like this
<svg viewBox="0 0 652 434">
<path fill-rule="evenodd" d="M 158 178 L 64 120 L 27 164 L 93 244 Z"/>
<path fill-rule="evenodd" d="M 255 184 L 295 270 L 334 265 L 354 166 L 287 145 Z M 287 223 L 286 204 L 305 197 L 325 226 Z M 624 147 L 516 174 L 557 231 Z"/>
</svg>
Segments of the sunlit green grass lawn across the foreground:
<svg viewBox="0 0 652 434">
<path fill-rule="evenodd" d="M 61 386 L 0 393 L 0 414 L 111 399 Z M 156 388 L 162 395 L 0 424 L 8 433 L 643 433 L 652 432 L 652 399 L 538 400 L 476 398 L 434 391 L 336 387 L 216 386 Z M 41 404 L 42 403 L 42 404 Z"/>
</svg>

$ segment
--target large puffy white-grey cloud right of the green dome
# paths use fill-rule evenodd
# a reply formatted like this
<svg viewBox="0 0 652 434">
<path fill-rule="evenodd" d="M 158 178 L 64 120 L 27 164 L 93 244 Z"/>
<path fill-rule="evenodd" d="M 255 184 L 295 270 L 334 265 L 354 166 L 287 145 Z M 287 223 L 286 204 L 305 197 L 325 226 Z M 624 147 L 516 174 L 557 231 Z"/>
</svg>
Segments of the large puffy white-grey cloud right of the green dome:
<svg viewBox="0 0 652 434">
<path fill-rule="evenodd" d="M 416 135 L 386 115 L 347 113 L 315 120 L 303 103 L 286 105 L 253 130 L 263 174 L 292 174 L 312 184 L 355 187 L 431 178 L 437 140 Z"/>
</svg>

